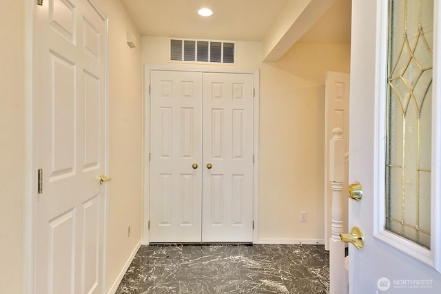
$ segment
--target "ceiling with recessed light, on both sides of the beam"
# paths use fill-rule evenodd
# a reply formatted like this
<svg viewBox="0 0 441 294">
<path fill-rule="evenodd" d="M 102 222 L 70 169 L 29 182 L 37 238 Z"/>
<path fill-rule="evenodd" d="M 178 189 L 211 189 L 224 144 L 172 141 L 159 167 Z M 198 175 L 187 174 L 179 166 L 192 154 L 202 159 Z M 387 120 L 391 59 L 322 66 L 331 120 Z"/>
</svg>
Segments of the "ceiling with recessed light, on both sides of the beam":
<svg viewBox="0 0 441 294">
<path fill-rule="evenodd" d="M 123 0 L 143 36 L 262 41 L 287 1 L 297 0 Z M 209 7 L 212 17 L 200 17 Z M 336 0 L 299 40 L 350 43 L 351 0 Z"/>
</svg>

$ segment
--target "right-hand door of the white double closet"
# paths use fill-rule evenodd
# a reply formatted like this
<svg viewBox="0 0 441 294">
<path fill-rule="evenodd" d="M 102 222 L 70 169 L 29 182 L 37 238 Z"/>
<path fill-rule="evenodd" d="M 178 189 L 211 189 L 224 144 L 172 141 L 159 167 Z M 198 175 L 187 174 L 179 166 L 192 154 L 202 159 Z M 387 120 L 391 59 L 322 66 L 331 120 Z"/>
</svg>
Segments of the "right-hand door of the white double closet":
<svg viewBox="0 0 441 294">
<path fill-rule="evenodd" d="M 253 75 L 204 73 L 203 242 L 252 242 Z"/>
</svg>

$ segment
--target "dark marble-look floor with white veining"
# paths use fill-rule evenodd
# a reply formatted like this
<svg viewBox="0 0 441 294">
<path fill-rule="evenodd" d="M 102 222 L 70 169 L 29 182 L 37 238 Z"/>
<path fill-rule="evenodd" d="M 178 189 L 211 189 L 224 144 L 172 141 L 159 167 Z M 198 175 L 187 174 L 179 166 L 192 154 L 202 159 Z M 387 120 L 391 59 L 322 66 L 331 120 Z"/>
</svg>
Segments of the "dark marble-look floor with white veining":
<svg viewBox="0 0 441 294">
<path fill-rule="evenodd" d="M 116 293 L 329 293 L 329 254 L 322 245 L 141 246 Z"/>
</svg>

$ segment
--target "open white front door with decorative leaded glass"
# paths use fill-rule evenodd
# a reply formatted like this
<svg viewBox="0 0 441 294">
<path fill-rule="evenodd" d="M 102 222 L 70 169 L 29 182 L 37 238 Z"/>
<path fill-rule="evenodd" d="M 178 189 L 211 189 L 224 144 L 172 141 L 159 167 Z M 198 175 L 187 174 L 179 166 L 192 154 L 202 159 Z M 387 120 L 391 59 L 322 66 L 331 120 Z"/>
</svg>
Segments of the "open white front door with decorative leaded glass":
<svg viewBox="0 0 441 294">
<path fill-rule="evenodd" d="M 349 228 L 364 246 L 349 244 L 349 293 L 441 291 L 439 11 L 352 2 Z"/>
</svg>

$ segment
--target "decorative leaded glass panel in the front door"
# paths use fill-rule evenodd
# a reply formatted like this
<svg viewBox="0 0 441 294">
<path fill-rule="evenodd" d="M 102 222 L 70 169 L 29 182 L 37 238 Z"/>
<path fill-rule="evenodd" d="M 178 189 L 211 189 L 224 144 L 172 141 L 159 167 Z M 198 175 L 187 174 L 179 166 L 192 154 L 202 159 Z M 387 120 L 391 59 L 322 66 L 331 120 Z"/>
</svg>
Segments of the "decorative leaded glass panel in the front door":
<svg viewBox="0 0 441 294">
<path fill-rule="evenodd" d="M 430 249 L 433 0 L 389 1 L 386 229 Z"/>
</svg>

